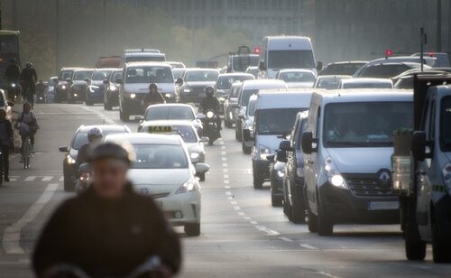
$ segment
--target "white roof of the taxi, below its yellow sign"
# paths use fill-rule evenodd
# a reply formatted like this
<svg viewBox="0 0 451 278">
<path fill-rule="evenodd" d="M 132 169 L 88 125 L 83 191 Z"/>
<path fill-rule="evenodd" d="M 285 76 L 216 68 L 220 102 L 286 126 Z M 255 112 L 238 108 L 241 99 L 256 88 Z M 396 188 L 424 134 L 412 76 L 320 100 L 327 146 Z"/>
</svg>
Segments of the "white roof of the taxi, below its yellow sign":
<svg viewBox="0 0 451 278">
<path fill-rule="evenodd" d="M 123 143 L 128 142 L 130 144 L 171 144 L 171 145 L 183 145 L 180 136 L 168 135 L 168 134 L 110 134 L 106 135 L 106 142 Z"/>
</svg>

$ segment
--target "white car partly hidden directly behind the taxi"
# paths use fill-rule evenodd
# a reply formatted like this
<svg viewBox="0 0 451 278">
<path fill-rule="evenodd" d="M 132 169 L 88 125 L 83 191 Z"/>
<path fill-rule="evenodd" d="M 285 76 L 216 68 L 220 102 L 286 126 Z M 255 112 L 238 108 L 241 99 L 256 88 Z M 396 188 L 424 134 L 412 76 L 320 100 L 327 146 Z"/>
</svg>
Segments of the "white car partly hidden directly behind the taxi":
<svg viewBox="0 0 451 278">
<path fill-rule="evenodd" d="M 208 137 L 199 137 L 194 125 L 188 121 L 149 121 L 143 125 L 141 132 L 179 135 L 187 145 L 191 163 L 205 162 L 204 143 L 208 143 Z M 205 173 L 198 177 L 200 181 L 205 181 Z"/>
</svg>

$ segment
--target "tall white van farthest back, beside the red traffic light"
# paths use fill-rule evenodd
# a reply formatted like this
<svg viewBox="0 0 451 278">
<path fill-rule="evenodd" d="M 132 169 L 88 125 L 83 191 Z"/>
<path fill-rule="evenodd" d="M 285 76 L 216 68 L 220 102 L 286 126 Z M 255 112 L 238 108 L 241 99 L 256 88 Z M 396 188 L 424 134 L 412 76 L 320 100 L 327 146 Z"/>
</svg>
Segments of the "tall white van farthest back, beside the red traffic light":
<svg viewBox="0 0 451 278">
<path fill-rule="evenodd" d="M 264 37 L 259 58 L 259 77 L 274 79 L 277 71 L 307 69 L 317 73 L 310 38 L 300 36 Z"/>
</svg>

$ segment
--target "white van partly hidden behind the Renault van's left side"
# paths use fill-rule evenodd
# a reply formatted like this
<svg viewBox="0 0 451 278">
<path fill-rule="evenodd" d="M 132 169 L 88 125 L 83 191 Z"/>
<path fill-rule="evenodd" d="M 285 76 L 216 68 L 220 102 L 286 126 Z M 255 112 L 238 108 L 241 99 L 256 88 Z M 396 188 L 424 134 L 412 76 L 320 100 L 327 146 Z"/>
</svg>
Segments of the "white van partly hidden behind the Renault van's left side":
<svg viewBox="0 0 451 278">
<path fill-rule="evenodd" d="M 288 134 L 299 112 L 308 110 L 312 89 L 272 89 L 258 93 L 253 119 L 253 134 L 244 130 L 244 141 L 253 141 L 253 187 L 261 189 L 270 181 L 267 156 L 277 153 L 281 140 Z"/>
</svg>

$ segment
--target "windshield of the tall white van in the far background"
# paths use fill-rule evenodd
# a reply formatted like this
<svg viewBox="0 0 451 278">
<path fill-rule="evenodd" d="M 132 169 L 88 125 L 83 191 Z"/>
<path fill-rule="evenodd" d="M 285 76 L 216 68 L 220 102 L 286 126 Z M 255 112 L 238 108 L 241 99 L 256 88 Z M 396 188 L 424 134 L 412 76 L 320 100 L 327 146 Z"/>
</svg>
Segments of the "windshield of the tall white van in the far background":
<svg viewBox="0 0 451 278">
<path fill-rule="evenodd" d="M 269 51 L 268 69 L 315 68 L 312 51 Z"/>
</svg>

